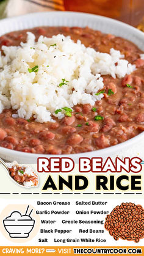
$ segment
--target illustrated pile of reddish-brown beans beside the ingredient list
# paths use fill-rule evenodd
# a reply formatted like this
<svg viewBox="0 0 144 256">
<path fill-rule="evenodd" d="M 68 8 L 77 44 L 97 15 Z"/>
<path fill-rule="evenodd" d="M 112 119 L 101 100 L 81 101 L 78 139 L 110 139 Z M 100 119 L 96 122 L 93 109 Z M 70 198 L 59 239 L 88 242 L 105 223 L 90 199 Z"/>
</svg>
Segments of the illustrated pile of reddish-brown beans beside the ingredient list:
<svg viewBox="0 0 144 256">
<path fill-rule="evenodd" d="M 138 243 L 144 238 L 144 210 L 141 205 L 121 203 L 107 215 L 104 227 L 116 241 L 121 238 Z"/>
</svg>

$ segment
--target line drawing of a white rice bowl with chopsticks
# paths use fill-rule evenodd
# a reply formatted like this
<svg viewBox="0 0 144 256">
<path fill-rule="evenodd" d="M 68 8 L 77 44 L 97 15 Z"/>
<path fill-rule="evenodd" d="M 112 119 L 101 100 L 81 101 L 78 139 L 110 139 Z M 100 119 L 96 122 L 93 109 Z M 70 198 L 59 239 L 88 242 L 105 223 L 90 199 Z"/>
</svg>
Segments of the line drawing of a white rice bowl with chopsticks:
<svg viewBox="0 0 144 256">
<path fill-rule="evenodd" d="M 29 207 L 27 207 L 28 210 Z M 27 215 L 27 210 L 24 215 L 19 211 L 13 211 L 10 216 L 3 220 L 5 230 L 9 233 L 11 238 L 27 238 L 34 228 L 35 220 Z"/>
</svg>

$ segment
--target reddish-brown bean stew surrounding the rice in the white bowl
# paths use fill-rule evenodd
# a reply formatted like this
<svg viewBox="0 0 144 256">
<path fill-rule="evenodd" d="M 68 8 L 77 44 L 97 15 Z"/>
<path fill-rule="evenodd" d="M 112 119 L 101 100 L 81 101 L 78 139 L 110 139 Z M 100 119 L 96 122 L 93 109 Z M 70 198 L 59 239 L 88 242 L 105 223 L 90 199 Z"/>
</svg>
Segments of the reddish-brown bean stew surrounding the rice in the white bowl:
<svg viewBox="0 0 144 256">
<path fill-rule="evenodd" d="M 140 59 L 142 51 L 136 45 L 88 27 L 35 27 L 28 31 L 36 38 L 40 35 L 70 35 L 74 41 L 79 39 L 85 46 L 103 53 L 109 53 L 110 48 L 118 49 L 137 70 L 123 79 L 103 76 L 103 99 L 95 106 L 75 106 L 71 117 L 65 116 L 62 120 L 54 117 L 56 123 L 13 119 L 12 114 L 16 111 L 5 109 L 0 114 L 1 147 L 43 154 L 90 152 L 117 145 L 144 131 L 144 60 Z M 26 42 L 26 32 L 2 35 L 0 46 Z"/>
</svg>

